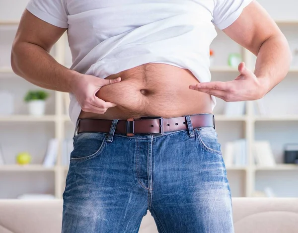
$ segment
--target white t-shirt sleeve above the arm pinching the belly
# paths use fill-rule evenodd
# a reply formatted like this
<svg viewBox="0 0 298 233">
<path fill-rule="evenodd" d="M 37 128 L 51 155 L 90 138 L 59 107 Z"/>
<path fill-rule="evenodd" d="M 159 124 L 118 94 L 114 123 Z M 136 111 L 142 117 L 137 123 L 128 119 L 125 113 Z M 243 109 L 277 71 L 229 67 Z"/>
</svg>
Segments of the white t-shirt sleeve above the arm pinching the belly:
<svg viewBox="0 0 298 233">
<path fill-rule="evenodd" d="M 68 28 L 68 14 L 64 0 L 30 0 L 26 9 L 47 23 Z"/>
</svg>

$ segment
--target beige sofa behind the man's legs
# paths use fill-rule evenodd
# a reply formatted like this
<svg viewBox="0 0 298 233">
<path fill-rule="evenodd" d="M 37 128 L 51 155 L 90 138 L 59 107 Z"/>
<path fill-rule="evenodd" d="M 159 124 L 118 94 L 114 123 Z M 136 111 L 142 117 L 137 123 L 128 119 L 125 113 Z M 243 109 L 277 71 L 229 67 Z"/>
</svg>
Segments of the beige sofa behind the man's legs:
<svg viewBox="0 0 298 233">
<path fill-rule="evenodd" d="M 62 200 L 0 200 L 0 233 L 61 233 Z M 233 198 L 235 233 L 298 233 L 298 198 Z M 157 233 L 150 212 L 139 233 Z"/>
</svg>

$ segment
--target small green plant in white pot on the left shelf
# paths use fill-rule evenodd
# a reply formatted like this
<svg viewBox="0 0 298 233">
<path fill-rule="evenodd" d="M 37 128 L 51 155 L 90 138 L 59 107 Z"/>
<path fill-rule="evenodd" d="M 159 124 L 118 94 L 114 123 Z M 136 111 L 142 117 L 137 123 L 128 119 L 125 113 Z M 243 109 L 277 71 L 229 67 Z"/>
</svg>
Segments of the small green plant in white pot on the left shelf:
<svg viewBox="0 0 298 233">
<path fill-rule="evenodd" d="M 33 116 L 42 116 L 45 114 L 46 99 L 49 93 L 44 90 L 29 90 L 24 98 L 28 103 L 29 114 Z"/>
</svg>

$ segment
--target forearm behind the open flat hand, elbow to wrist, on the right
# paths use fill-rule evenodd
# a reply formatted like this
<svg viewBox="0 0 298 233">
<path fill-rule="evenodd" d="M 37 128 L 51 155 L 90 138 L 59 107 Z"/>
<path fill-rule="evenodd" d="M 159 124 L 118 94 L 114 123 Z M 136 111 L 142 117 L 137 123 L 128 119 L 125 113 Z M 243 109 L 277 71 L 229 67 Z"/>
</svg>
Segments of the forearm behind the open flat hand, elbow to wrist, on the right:
<svg viewBox="0 0 298 233">
<path fill-rule="evenodd" d="M 267 39 L 260 47 L 254 74 L 267 94 L 287 75 L 292 61 L 291 50 L 283 35 Z"/>
</svg>

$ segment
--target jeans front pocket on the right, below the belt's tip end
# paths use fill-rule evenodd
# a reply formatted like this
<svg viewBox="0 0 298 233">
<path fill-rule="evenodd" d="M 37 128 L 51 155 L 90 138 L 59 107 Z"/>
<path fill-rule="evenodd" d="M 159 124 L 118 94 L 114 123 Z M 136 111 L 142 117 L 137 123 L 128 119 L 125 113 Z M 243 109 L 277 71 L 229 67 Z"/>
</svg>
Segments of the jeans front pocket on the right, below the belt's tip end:
<svg viewBox="0 0 298 233">
<path fill-rule="evenodd" d="M 218 142 L 218 134 L 213 127 L 194 128 L 194 132 L 204 150 L 222 155 L 221 144 Z"/>
</svg>

